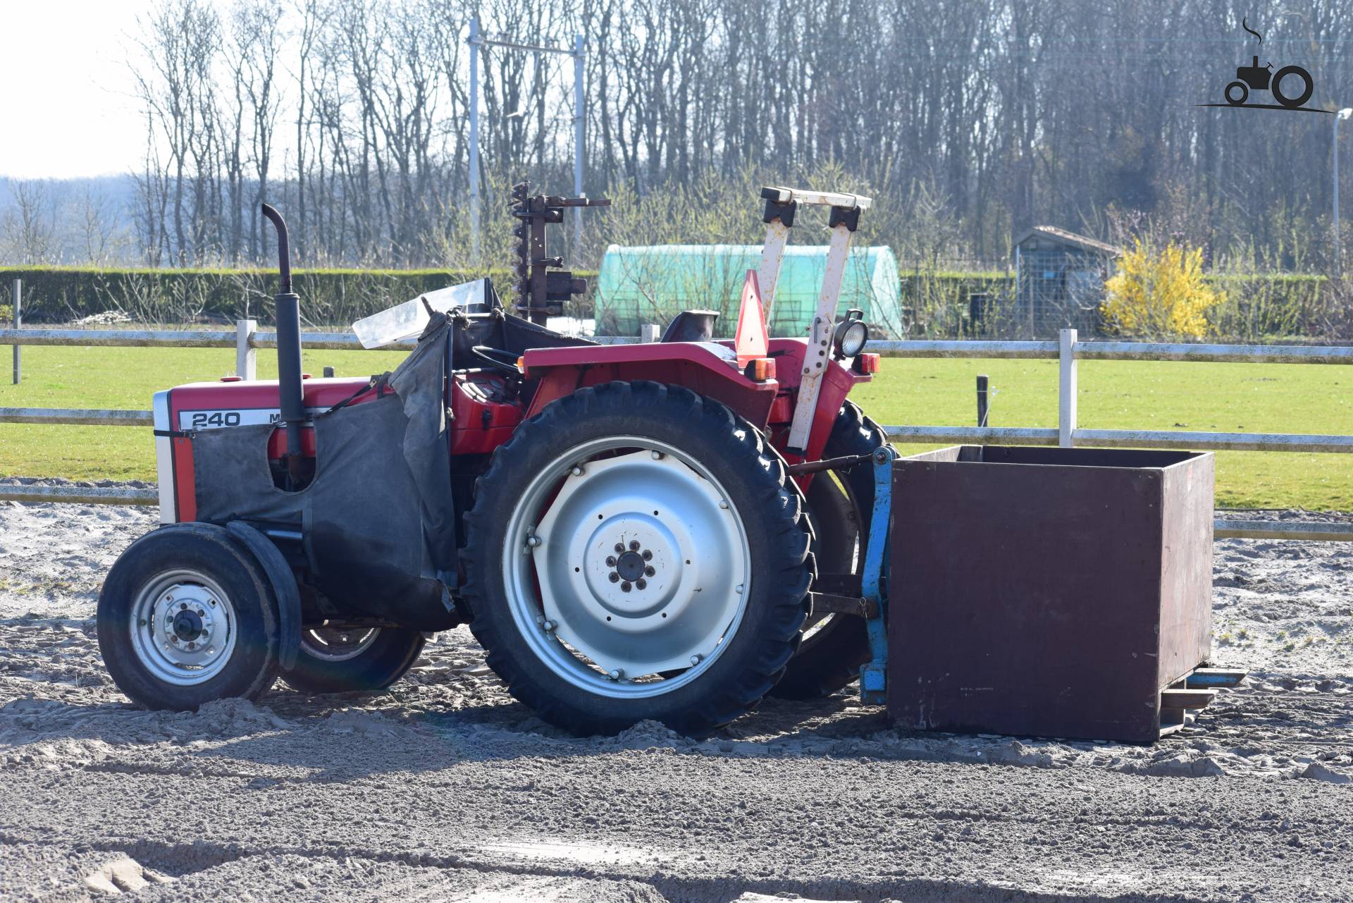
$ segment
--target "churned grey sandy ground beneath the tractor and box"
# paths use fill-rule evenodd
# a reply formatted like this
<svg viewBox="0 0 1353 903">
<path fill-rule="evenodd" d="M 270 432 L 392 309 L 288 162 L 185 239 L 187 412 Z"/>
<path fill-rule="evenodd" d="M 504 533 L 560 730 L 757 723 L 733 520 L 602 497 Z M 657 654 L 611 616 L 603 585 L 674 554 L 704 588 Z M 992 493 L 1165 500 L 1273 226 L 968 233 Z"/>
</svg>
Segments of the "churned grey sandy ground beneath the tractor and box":
<svg viewBox="0 0 1353 903">
<path fill-rule="evenodd" d="M 888 726 L 848 695 L 576 739 L 464 630 L 373 699 L 138 711 L 103 573 L 154 512 L 0 502 L 0 900 L 1353 900 L 1353 548 L 1216 544 L 1216 662 L 1154 747 Z"/>
</svg>

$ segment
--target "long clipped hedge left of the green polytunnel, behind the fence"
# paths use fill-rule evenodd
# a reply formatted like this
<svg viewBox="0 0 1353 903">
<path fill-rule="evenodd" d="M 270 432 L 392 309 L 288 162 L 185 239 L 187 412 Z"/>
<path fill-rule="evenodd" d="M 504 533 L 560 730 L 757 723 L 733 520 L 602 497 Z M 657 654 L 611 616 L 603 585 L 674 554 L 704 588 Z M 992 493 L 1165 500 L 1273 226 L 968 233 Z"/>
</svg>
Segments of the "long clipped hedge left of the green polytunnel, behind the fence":
<svg viewBox="0 0 1353 903">
<path fill-rule="evenodd" d="M 292 290 L 314 325 L 346 325 L 390 305 L 483 276 L 467 269 L 295 269 Z M 579 273 L 595 276 L 595 273 Z M 511 273 L 490 271 L 506 298 Z M 26 324 L 70 322 L 120 310 L 139 322 L 272 322 L 277 275 L 268 269 L 0 269 L 0 286 L 23 279 Z M 586 303 L 586 302 L 584 302 Z"/>
</svg>

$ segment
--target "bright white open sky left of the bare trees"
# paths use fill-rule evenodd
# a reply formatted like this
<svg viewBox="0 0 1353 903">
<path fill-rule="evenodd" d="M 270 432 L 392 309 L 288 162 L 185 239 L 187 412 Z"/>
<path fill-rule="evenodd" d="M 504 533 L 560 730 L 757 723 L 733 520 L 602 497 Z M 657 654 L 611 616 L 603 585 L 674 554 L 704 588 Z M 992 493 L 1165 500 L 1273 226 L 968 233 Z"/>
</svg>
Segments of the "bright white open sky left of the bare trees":
<svg viewBox="0 0 1353 903">
<path fill-rule="evenodd" d="M 0 176 L 69 179 L 134 168 L 145 126 L 126 54 L 147 3 L 9 0 L 4 7 Z"/>
</svg>

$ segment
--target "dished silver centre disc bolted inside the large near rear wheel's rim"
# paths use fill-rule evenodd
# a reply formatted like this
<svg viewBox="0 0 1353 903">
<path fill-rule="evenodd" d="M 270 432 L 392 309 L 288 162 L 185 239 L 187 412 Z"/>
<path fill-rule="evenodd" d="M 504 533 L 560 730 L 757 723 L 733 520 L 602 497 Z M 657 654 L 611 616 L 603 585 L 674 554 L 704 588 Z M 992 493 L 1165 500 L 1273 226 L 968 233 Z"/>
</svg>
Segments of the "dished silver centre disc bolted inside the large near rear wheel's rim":
<svg viewBox="0 0 1353 903">
<path fill-rule="evenodd" d="M 567 477 L 538 524 L 510 533 L 538 585 L 541 650 L 622 682 L 712 658 L 750 581 L 747 540 L 723 490 L 656 449 L 561 463 Z M 528 581 L 522 573 L 517 585 Z"/>
</svg>

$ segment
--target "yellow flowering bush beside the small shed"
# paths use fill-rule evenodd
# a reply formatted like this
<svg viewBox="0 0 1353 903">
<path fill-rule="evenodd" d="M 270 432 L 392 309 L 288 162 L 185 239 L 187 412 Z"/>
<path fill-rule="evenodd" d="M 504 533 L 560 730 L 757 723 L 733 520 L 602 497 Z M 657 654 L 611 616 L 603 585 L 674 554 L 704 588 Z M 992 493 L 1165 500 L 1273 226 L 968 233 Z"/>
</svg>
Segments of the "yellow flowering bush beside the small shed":
<svg viewBox="0 0 1353 903">
<path fill-rule="evenodd" d="M 1170 244 L 1155 252 L 1138 240 L 1105 284 L 1104 320 L 1115 332 L 1143 338 L 1201 338 L 1207 311 L 1226 301 L 1203 279 L 1203 249 Z"/>
</svg>

